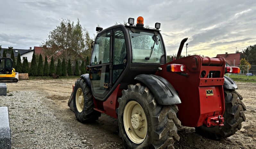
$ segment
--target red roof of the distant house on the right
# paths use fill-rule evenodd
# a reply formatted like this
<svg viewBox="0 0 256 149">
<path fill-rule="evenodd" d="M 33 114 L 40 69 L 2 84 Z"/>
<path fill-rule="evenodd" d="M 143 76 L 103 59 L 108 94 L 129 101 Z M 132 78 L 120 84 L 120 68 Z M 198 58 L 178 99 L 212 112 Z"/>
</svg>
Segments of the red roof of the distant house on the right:
<svg viewBox="0 0 256 149">
<path fill-rule="evenodd" d="M 228 54 L 217 54 L 216 57 L 223 57 L 226 60 L 226 63 L 230 66 L 234 66 L 234 59 L 235 59 L 235 66 L 240 64 L 240 53 L 230 53 Z"/>
</svg>

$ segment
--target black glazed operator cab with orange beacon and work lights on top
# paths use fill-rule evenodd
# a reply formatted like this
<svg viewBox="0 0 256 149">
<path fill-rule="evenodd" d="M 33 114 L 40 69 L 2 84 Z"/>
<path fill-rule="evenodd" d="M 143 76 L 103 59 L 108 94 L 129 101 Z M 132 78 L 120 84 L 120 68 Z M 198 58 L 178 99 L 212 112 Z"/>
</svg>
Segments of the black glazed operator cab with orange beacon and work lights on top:
<svg viewBox="0 0 256 149">
<path fill-rule="evenodd" d="M 126 89 L 139 74 L 154 74 L 166 63 L 166 50 L 159 28 L 145 28 L 144 20 L 129 18 L 129 25 L 115 25 L 99 31 L 90 60 L 90 84 L 94 97 L 105 101 L 118 84 Z M 134 82 L 131 82 L 134 80 Z"/>
</svg>

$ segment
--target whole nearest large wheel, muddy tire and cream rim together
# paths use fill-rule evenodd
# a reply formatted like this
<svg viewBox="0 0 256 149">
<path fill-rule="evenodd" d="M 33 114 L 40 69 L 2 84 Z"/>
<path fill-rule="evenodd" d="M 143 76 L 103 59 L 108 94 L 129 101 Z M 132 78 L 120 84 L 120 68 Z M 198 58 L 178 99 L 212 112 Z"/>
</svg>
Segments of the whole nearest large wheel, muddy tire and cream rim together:
<svg viewBox="0 0 256 149">
<path fill-rule="evenodd" d="M 118 99 L 119 135 L 126 148 L 173 148 L 181 122 L 176 105 L 159 105 L 149 89 L 129 85 Z"/>
</svg>

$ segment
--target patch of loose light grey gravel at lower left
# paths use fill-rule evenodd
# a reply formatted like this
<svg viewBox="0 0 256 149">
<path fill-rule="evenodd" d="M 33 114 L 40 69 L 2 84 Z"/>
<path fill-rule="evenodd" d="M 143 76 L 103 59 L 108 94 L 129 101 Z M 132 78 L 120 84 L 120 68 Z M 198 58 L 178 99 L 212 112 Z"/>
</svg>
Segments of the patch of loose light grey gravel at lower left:
<svg viewBox="0 0 256 149">
<path fill-rule="evenodd" d="M 70 130 L 45 100 L 49 99 L 36 91 L 13 91 L 0 97 L 0 105 L 9 107 L 12 148 L 94 148 L 94 142 L 84 137 L 87 133 L 78 135 L 78 130 Z M 95 148 L 115 146 L 115 142 L 106 144 Z"/>
</svg>

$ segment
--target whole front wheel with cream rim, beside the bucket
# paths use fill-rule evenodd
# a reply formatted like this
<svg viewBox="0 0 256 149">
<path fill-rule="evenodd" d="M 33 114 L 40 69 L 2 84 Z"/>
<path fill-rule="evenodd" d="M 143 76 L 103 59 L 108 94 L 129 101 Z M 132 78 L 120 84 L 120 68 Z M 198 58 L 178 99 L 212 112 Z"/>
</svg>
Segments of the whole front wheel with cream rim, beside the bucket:
<svg viewBox="0 0 256 149">
<path fill-rule="evenodd" d="M 73 107 L 79 122 L 94 122 L 98 120 L 100 112 L 93 109 L 92 93 L 84 79 L 77 79 L 73 92 Z"/>
</svg>

